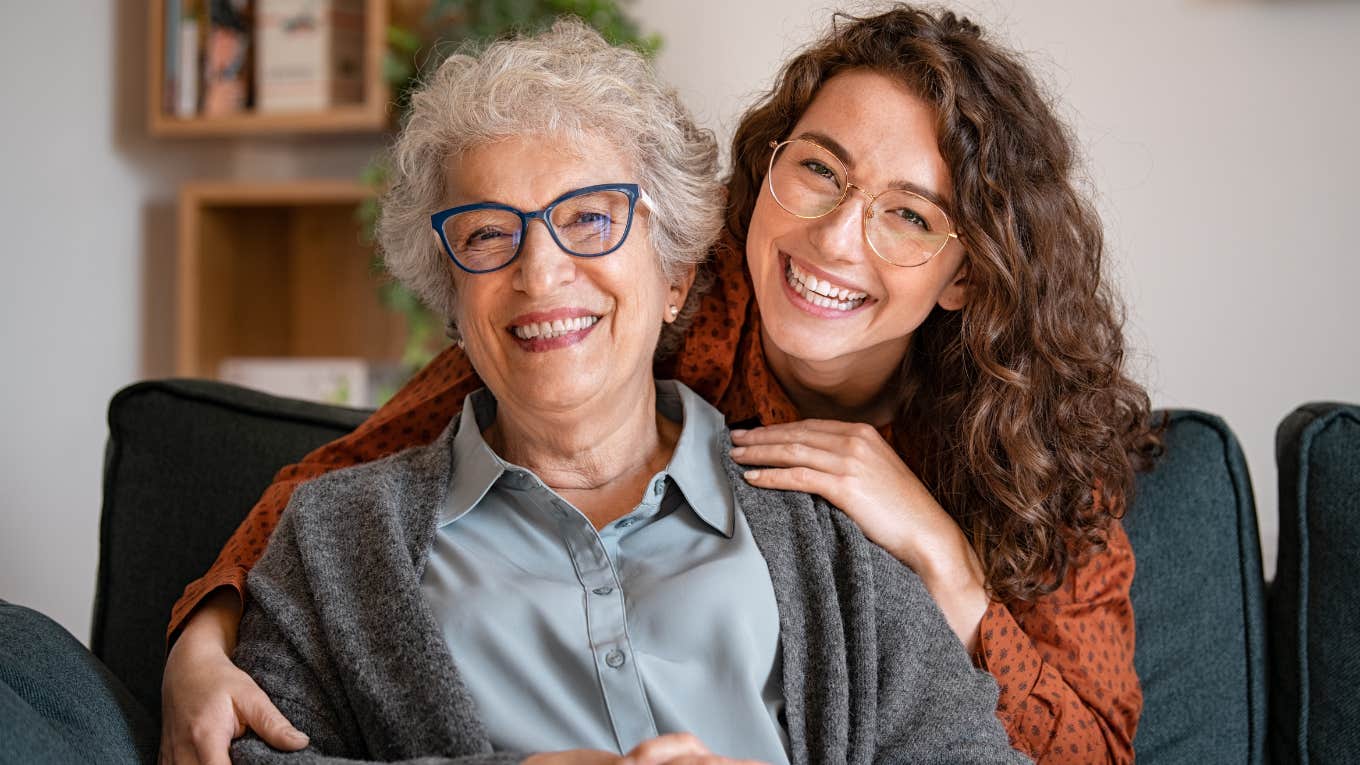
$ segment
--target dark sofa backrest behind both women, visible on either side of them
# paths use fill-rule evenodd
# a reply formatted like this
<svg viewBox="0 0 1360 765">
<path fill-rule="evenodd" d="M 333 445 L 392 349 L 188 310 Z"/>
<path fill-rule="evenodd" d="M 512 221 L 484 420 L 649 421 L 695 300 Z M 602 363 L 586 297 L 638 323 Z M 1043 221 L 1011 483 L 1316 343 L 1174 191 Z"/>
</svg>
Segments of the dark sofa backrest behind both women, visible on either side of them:
<svg viewBox="0 0 1360 765">
<path fill-rule="evenodd" d="M 154 715 L 184 587 L 280 467 L 366 415 L 197 380 L 113 397 L 91 648 Z M 1138 478 L 1125 528 L 1137 555 L 1140 761 L 1259 762 L 1261 554 L 1246 464 L 1221 419 L 1170 412 L 1167 453 Z"/>
</svg>

